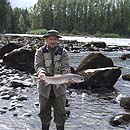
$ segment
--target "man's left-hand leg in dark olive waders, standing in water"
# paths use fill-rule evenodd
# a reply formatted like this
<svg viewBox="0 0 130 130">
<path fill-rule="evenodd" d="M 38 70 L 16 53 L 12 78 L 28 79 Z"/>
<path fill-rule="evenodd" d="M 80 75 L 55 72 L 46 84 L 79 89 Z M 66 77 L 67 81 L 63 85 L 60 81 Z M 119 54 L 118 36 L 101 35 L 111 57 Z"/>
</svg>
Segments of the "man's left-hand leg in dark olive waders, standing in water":
<svg viewBox="0 0 130 130">
<path fill-rule="evenodd" d="M 39 95 L 40 113 L 38 116 L 41 119 L 42 130 L 49 130 L 51 117 L 51 98 L 47 99 Z"/>
</svg>

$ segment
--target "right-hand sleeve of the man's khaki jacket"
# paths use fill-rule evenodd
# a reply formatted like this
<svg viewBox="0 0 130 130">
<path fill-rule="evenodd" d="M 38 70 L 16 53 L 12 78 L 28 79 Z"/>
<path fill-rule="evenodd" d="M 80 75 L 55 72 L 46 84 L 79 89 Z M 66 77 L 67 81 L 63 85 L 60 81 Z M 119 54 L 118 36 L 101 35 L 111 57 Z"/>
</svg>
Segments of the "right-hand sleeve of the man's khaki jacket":
<svg viewBox="0 0 130 130">
<path fill-rule="evenodd" d="M 69 65 L 69 54 L 67 50 L 63 49 L 63 53 L 61 56 L 61 65 L 62 65 L 62 73 L 70 73 L 70 65 Z"/>
</svg>

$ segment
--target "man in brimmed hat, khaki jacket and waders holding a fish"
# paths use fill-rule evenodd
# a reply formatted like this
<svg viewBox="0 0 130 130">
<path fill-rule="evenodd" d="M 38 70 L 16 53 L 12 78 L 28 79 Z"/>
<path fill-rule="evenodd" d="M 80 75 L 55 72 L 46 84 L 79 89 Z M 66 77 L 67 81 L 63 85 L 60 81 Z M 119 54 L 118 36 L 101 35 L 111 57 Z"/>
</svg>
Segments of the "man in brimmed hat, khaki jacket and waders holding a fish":
<svg viewBox="0 0 130 130">
<path fill-rule="evenodd" d="M 51 107 L 54 108 L 54 121 L 57 130 L 64 130 L 66 119 L 66 87 L 61 85 L 56 88 L 55 85 L 45 86 L 40 78 L 54 76 L 54 74 L 65 74 L 70 72 L 69 56 L 67 51 L 59 46 L 58 31 L 50 30 L 44 36 L 46 45 L 36 51 L 34 67 L 38 74 L 39 82 L 39 117 L 42 122 L 42 130 L 49 130 L 51 117 Z"/>
</svg>

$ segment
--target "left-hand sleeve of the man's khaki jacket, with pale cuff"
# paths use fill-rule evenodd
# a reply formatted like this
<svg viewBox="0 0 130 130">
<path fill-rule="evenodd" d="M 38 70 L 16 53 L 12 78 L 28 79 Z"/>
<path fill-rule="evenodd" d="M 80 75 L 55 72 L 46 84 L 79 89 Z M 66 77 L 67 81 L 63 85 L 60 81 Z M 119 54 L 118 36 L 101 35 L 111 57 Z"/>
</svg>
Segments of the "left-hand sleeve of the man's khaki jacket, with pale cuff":
<svg viewBox="0 0 130 130">
<path fill-rule="evenodd" d="M 37 74 L 41 72 L 45 73 L 45 63 L 42 48 L 39 48 L 35 53 L 34 69 L 37 72 Z"/>
</svg>

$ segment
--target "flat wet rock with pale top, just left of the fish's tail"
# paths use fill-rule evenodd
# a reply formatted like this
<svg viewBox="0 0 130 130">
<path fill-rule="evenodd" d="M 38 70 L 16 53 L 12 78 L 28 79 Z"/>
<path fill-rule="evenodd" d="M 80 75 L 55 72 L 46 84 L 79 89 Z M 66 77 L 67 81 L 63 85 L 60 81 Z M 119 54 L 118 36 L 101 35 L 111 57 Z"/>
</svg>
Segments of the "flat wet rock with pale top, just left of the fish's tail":
<svg viewBox="0 0 130 130">
<path fill-rule="evenodd" d="M 13 87 L 13 88 L 18 88 L 18 87 L 30 87 L 32 86 L 32 82 L 29 82 L 29 81 L 22 81 L 22 80 L 12 80 L 11 81 L 11 86 L 10 87 Z"/>
</svg>

